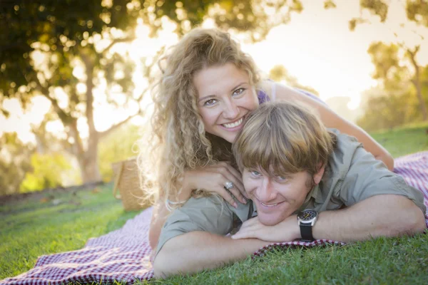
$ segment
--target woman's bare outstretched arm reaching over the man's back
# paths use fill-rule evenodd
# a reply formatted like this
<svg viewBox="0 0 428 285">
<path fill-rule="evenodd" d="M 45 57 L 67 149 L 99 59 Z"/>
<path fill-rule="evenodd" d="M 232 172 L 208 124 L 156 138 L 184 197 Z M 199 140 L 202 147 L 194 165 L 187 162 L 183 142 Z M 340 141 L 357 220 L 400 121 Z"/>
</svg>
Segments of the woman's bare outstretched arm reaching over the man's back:
<svg viewBox="0 0 428 285">
<path fill-rule="evenodd" d="M 365 147 L 365 150 L 372 153 L 377 160 L 382 160 L 385 165 L 387 165 L 389 170 L 394 170 L 394 158 L 389 152 L 382 147 L 374 138 L 372 138 L 365 130 L 362 130 L 359 126 L 351 123 L 348 120 L 337 115 L 333 110 L 328 108 L 327 105 L 311 98 L 308 95 L 302 94 L 297 90 L 290 88 L 288 86 L 284 86 L 282 84 L 276 84 L 276 95 L 275 100 L 288 100 L 288 101 L 300 101 L 310 105 L 312 108 L 315 108 L 322 120 L 322 123 L 327 128 L 336 128 L 340 130 L 341 133 L 345 133 L 347 135 L 352 135 L 357 138 L 359 142 Z M 266 88 L 267 93 L 269 95 L 270 88 Z"/>
</svg>

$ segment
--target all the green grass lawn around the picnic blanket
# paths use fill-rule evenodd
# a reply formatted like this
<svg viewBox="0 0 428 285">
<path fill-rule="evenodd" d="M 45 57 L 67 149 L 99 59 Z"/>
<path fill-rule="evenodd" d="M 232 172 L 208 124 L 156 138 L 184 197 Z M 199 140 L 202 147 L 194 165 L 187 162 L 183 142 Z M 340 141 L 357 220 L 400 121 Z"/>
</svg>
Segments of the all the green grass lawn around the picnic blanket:
<svg viewBox="0 0 428 285">
<path fill-rule="evenodd" d="M 428 150 L 428 124 L 372 135 L 394 157 Z M 112 186 L 58 192 L 0 206 L 0 280 L 31 269 L 42 254 L 80 249 L 120 228 L 124 212 Z M 174 277 L 165 284 L 427 284 L 428 234 L 379 238 L 343 247 L 274 250 L 223 269 Z M 149 283 L 158 283 L 152 281 Z"/>
</svg>

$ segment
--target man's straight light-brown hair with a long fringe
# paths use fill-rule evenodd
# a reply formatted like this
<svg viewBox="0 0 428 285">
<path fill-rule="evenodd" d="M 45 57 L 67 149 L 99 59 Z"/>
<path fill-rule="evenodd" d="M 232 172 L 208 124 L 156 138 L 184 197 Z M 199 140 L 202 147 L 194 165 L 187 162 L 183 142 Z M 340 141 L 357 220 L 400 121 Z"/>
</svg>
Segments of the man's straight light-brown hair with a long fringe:
<svg viewBox="0 0 428 285">
<path fill-rule="evenodd" d="M 326 165 L 336 135 L 305 105 L 269 102 L 248 115 L 233 143 L 241 172 L 259 167 L 275 176 L 307 171 L 310 175 Z"/>
</svg>

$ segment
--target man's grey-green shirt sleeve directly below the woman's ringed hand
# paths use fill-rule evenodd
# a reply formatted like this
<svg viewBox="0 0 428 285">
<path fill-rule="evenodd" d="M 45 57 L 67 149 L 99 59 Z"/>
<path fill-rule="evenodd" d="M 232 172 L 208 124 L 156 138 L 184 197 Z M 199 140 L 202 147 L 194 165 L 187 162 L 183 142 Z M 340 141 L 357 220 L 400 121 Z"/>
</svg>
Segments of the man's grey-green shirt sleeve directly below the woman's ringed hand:
<svg viewBox="0 0 428 285">
<path fill-rule="evenodd" d="M 225 235 L 233 227 L 233 212 L 223 198 L 210 196 L 190 198 L 175 209 L 166 220 L 159 237 L 157 252 L 165 242 L 188 232 L 211 232 Z"/>
</svg>

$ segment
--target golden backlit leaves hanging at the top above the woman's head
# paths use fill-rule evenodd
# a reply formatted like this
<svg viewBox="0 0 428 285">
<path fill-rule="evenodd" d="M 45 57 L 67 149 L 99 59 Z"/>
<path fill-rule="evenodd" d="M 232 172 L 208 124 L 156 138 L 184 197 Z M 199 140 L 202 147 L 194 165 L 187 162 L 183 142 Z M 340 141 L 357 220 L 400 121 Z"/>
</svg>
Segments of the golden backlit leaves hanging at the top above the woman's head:
<svg viewBox="0 0 428 285">
<path fill-rule="evenodd" d="M 247 33 L 253 41 L 262 40 L 270 28 L 287 23 L 291 13 L 303 9 L 300 0 L 155 0 L 145 1 L 144 6 L 143 19 L 153 33 L 161 26 L 162 16 L 177 23 L 176 32 L 180 34 L 211 18 L 219 28 Z"/>
</svg>

